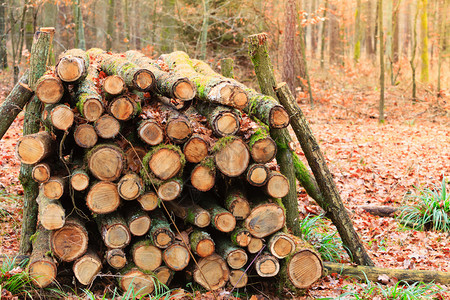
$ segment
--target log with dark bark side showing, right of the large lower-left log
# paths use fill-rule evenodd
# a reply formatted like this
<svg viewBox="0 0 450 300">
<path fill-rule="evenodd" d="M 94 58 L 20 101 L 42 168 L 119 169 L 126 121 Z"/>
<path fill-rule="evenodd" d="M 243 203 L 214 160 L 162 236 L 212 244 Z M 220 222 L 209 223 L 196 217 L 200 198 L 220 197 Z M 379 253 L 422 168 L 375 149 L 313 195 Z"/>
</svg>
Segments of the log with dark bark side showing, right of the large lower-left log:
<svg viewBox="0 0 450 300">
<path fill-rule="evenodd" d="M 130 231 L 118 212 L 97 215 L 95 221 L 103 242 L 108 248 L 124 248 L 130 243 Z"/>
</svg>

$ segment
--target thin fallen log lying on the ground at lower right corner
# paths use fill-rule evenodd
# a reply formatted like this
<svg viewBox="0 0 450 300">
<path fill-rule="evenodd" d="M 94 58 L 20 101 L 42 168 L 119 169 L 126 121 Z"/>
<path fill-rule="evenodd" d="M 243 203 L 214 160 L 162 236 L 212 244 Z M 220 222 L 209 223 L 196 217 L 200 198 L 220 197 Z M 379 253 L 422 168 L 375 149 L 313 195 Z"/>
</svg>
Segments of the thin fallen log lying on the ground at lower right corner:
<svg viewBox="0 0 450 300">
<path fill-rule="evenodd" d="M 450 273 L 434 270 L 387 269 L 369 266 L 352 266 L 332 262 L 324 262 L 323 266 L 328 274 L 337 273 L 341 276 L 352 276 L 359 278 L 364 282 L 366 282 L 366 280 L 377 282 L 378 277 L 384 274 L 390 278 L 396 278 L 399 281 L 403 280 L 409 283 L 425 282 L 440 283 L 444 285 L 450 284 Z"/>
</svg>

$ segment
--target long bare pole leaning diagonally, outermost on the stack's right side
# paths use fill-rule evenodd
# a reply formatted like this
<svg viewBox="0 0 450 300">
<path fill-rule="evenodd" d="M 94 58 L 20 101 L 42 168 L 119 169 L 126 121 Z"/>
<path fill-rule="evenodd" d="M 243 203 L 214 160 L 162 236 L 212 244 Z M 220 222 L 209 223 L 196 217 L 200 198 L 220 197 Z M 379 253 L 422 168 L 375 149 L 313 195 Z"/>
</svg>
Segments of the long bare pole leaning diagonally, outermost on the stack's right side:
<svg viewBox="0 0 450 300">
<path fill-rule="evenodd" d="M 318 202 L 318 204 L 325 210 L 327 217 L 333 221 L 350 257 L 360 265 L 373 266 L 373 262 L 364 249 L 347 214 L 325 158 L 320 151 L 319 144 L 314 138 L 303 112 L 296 104 L 285 83 L 277 87 L 277 94 L 280 102 L 285 106 L 289 114 L 296 116 L 296 118 L 292 119 L 292 128 L 305 153 L 311 170 L 317 178 L 320 192 L 324 196 L 324 201 Z"/>
</svg>

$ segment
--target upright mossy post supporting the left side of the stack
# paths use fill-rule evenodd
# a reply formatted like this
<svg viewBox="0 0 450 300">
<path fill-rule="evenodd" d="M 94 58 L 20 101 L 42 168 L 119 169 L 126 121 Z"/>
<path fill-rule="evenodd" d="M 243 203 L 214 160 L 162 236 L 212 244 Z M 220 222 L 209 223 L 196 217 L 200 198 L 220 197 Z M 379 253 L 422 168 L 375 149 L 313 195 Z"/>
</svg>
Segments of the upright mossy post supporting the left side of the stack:
<svg viewBox="0 0 450 300">
<path fill-rule="evenodd" d="M 46 63 L 49 48 L 53 40 L 55 30 L 39 31 L 36 33 L 36 41 L 31 49 L 30 57 L 30 77 L 29 86 L 35 90 L 38 79 L 46 71 Z M 39 131 L 40 123 L 36 115 L 40 114 L 41 102 L 34 97 L 27 106 L 23 124 L 23 134 L 33 134 Z M 22 164 L 20 167 L 19 179 L 24 190 L 23 223 L 20 240 L 20 253 L 25 254 L 30 251 L 30 237 L 36 231 L 38 207 L 35 201 L 38 196 L 38 183 L 32 179 L 32 165 Z"/>
</svg>

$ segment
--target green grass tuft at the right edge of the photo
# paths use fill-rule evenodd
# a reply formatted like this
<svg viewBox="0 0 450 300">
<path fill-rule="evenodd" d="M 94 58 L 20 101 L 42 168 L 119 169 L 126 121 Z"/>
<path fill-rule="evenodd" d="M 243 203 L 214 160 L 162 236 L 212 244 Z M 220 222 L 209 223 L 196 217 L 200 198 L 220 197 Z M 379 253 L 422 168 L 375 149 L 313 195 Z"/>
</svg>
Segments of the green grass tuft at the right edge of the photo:
<svg viewBox="0 0 450 300">
<path fill-rule="evenodd" d="M 450 193 L 445 177 L 440 187 L 414 188 L 416 193 L 407 196 L 414 205 L 401 208 L 399 222 L 416 230 L 450 231 Z"/>
</svg>

